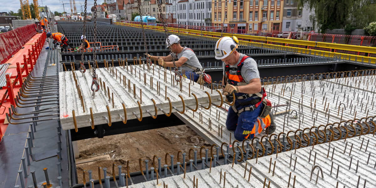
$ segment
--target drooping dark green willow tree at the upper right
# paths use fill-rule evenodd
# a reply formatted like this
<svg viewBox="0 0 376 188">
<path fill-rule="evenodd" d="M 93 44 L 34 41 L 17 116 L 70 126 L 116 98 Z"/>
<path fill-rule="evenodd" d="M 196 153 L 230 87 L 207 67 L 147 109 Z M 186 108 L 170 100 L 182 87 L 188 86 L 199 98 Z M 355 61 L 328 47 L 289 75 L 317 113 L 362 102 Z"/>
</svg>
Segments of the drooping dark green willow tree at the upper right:
<svg viewBox="0 0 376 188">
<path fill-rule="evenodd" d="M 326 29 L 342 29 L 348 23 L 349 15 L 355 3 L 361 0 L 298 0 L 299 8 L 308 6 L 315 12 L 310 17 L 312 23 L 318 23 L 321 33 Z M 315 25 L 314 25 L 315 27 Z"/>
</svg>

